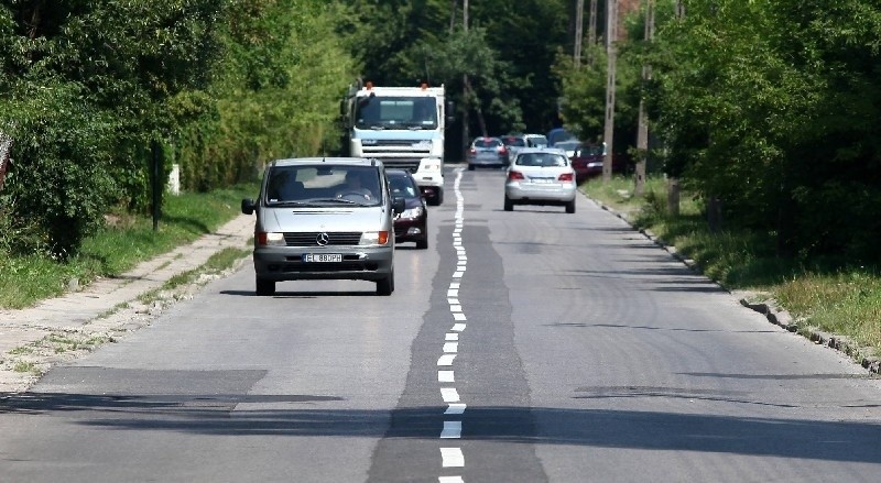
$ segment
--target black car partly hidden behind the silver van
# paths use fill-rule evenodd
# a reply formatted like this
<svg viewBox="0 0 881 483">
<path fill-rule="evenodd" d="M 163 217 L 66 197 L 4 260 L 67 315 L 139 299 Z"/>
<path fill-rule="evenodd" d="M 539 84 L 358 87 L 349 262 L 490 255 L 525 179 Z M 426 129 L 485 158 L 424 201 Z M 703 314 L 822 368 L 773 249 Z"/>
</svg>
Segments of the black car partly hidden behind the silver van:
<svg viewBox="0 0 881 483">
<path fill-rule="evenodd" d="M 404 169 L 387 169 L 392 198 L 404 198 L 404 210 L 394 216 L 394 241 L 416 242 L 416 249 L 428 248 L 428 209 L 413 175 Z"/>
</svg>

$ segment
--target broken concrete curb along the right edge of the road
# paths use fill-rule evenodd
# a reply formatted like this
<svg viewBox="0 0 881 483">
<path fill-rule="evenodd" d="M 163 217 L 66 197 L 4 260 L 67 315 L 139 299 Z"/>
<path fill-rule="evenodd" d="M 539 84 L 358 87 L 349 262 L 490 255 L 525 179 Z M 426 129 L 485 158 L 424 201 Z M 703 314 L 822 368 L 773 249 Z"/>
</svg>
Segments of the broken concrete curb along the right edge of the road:
<svg viewBox="0 0 881 483">
<path fill-rule="evenodd" d="M 599 206 L 603 210 L 610 212 L 611 215 L 614 215 L 616 217 L 627 222 L 631 228 L 633 228 L 633 230 L 639 231 L 646 239 L 651 240 L 654 244 L 666 250 L 671 255 L 673 255 L 674 259 L 685 264 L 688 268 L 698 273 L 703 273 L 703 270 L 697 264 L 697 262 L 678 253 L 675 246 L 666 244 L 662 239 L 656 237 L 650 230 L 638 229 L 633 227 L 633 224 L 627 218 L 626 213 L 621 213 L 614 210 L 613 208 L 602 204 L 601 201 L 590 198 L 586 194 L 585 197 L 594 201 L 597 206 Z M 881 356 L 874 355 L 873 349 L 861 348 L 855 344 L 852 341 L 848 340 L 848 338 L 845 336 L 828 333 L 813 327 L 806 327 L 804 326 L 804 323 L 800 323 L 802 322 L 801 320 L 794 319 L 788 311 L 781 308 L 777 305 L 776 300 L 771 299 L 761 303 L 751 303 L 750 299 L 753 299 L 757 294 L 742 290 L 732 292 L 716 281 L 714 281 L 714 283 L 716 283 L 716 285 L 718 285 L 720 288 L 728 292 L 729 294 L 738 297 L 740 305 L 742 305 L 743 307 L 747 307 L 764 316 L 769 322 L 775 326 L 780 326 L 788 330 L 790 332 L 802 334 L 817 344 L 835 349 L 841 352 L 842 354 L 849 356 L 851 360 L 859 363 L 866 370 L 868 370 L 873 374 L 881 373 Z"/>
</svg>

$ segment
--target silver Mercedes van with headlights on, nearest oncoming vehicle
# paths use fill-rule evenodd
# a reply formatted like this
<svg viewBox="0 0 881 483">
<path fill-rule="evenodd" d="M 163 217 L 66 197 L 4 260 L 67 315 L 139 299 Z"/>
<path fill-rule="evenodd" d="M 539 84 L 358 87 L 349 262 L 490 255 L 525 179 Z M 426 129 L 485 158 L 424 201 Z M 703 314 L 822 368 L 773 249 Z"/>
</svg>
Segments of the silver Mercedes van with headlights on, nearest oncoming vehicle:
<svg viewBox="0 0 881 483">
<path fill-rule="evenodd" d="M 394 292 L 394 215 L 382 162 L 360 157 L 278 160 L 263 173 L 260 197 L 243 199 L 257 213 L 253 262 L 258 295 L 275 283 L 359 279 Z"/>
</svg>

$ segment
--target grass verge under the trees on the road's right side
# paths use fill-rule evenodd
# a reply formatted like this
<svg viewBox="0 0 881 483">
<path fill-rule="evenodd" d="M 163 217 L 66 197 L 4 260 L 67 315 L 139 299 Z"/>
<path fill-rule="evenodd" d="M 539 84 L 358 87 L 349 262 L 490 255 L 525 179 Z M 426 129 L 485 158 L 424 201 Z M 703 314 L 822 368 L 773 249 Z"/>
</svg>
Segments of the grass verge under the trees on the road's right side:
<svg viewBox="0 0 881 483">
<path fill-rule="evenodd" d="M 795 318 L 798 329 L 845 336 L 881 355 L 881 275 L 872 267 L 847 267 L 777 256 L 769 233 L 729 228 L 711 232 L 699 201 L 683 193 L 679 216 L 670 217 L 666 182 L 649 178 L 641 197 L 631 178 L 581 185 L 590 198 L 624 213 L 638 228 L 694 260 L 729 289 L 746 289 L 773 299 Z"/>
</svg>

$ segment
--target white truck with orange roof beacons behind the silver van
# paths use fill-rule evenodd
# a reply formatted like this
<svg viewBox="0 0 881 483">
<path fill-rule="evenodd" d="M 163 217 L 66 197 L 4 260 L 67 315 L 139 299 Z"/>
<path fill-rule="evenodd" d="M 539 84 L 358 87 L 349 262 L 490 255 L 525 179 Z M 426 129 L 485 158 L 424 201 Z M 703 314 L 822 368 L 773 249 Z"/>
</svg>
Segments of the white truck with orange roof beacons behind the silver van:
<svg viewBox="0 0 881 483">
<path fill-rule="evenodd" d="M 444 86 L 374 87 L 358 83 L 340 106 L 345 155 L 406 169 L 431 205 L 444 202 L 444 130 L 454 106 Z"/>
</svg>

